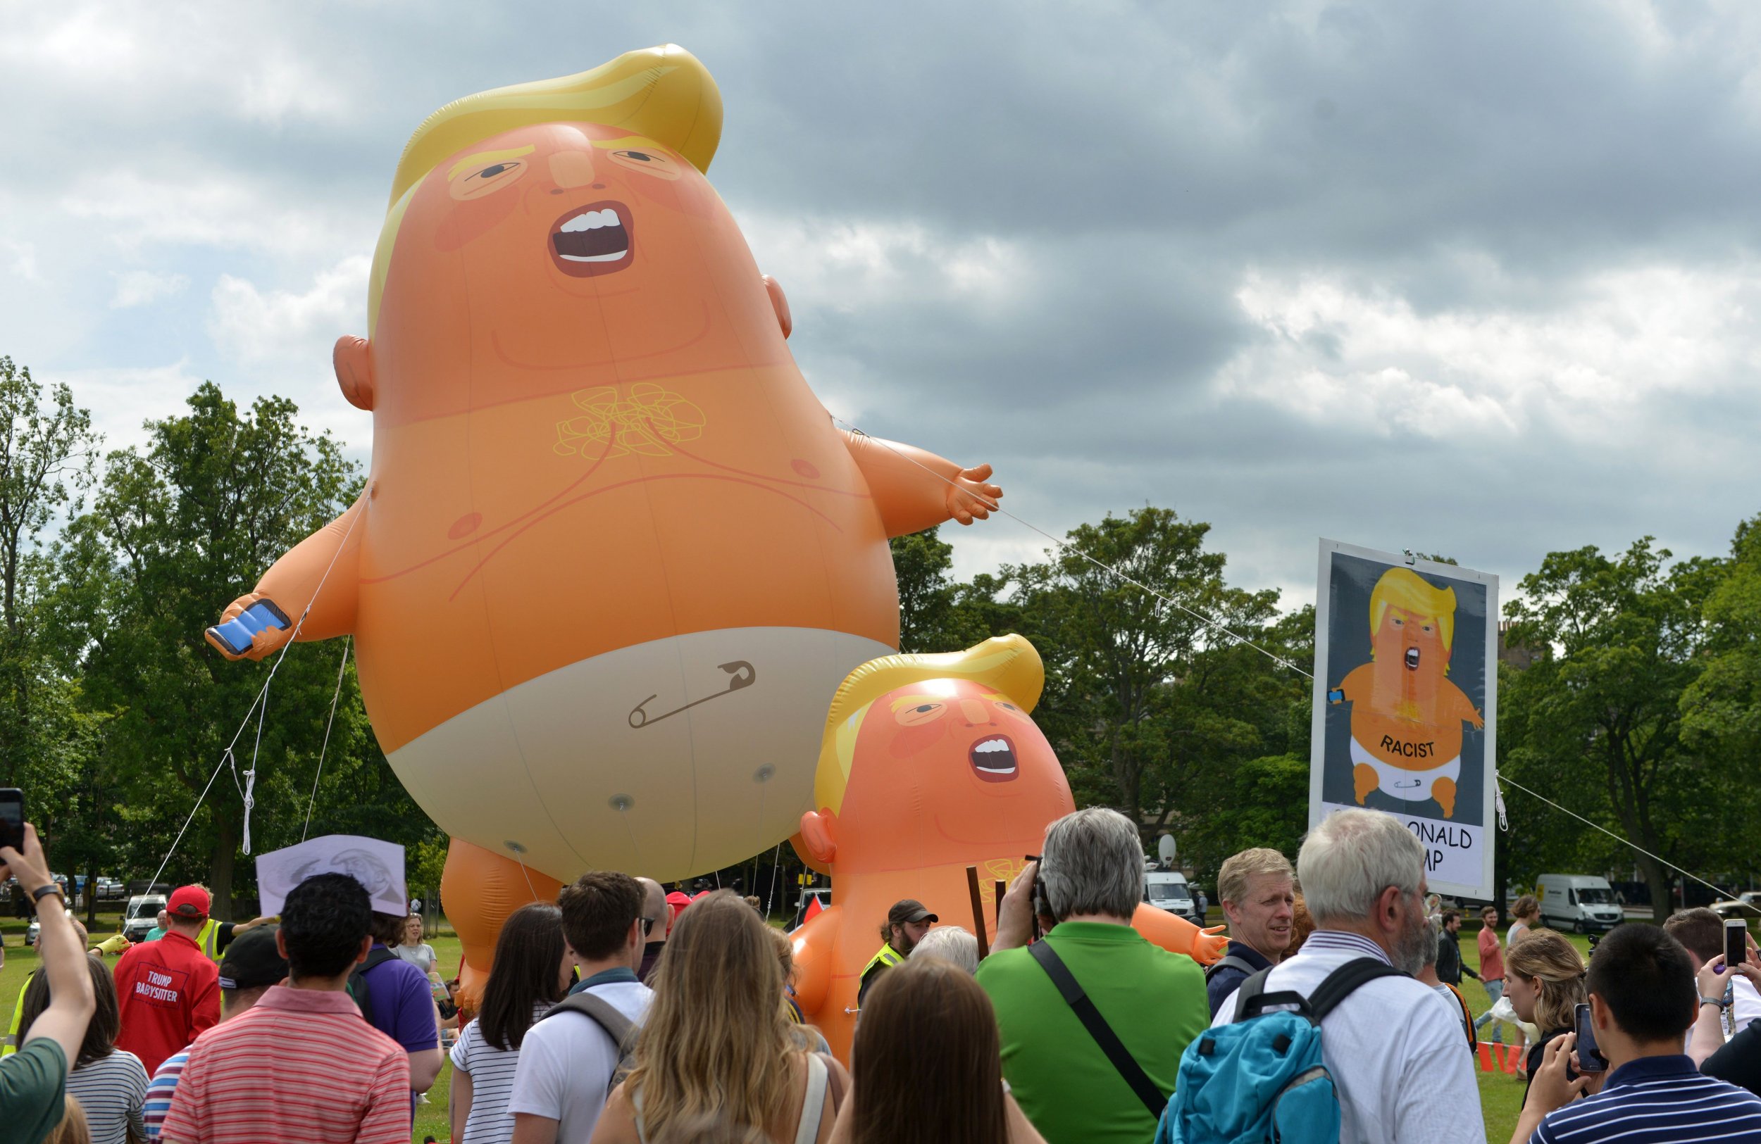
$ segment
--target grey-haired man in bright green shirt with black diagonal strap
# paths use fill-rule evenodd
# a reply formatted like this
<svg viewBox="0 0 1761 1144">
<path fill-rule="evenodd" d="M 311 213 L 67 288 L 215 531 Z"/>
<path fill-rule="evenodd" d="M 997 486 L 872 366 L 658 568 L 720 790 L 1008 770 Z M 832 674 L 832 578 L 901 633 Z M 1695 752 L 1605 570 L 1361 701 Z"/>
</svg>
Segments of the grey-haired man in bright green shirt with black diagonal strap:
<svg viewBox="0 0 1761 1144">
<path fill-rule="evenodd" d="M 1046 827 L 1044 855 L 1004 896 L 977 980 L 1009 1089 L 1048 1144 L 1153 1137 L 1180 1054 L 1205 1031 L 1205 975 L 1131 928 L 1141 901 L 1143 841 L 1111 810 Z M 1028 947 L 1035 915 L 1051 931 Z"/>
</svg>

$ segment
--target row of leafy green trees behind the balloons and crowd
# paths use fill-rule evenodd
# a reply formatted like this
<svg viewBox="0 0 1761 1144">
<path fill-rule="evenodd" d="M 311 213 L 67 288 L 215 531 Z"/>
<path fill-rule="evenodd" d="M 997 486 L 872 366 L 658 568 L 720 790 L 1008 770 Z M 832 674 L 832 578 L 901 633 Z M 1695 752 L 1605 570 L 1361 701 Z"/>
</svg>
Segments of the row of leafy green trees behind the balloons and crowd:
<svg viewBox="0 0 1761 1144">
<path fill-rule="evenodd" d="M 446 838 L 380 753 L 345 646 L 296 648 L 261 734 L 255 718 L 239 734 L 271 662 L 229 664 L 201 635 L 354 500 L 361 468 L 292 401 L 241 408 L 211 382 L 144 428 L 106 452 L 65 385 L 0 357 L 0 785 L 25 788 L 63 873 L 132 878 L 203 797 L 166 878 L 206 882 L 220 910 L 254 889 L 239 847 L 255 759 L 254 852 L 370 834 L 410 848 L 412 885 L 438 887 Z M 1648 537 L 1555 551 L 1506 588 L 1500 773 L 1720 885 L 1752 868 L 1761 797 L 1757 524 L 1717 558 L 1676 561 Z M 1245 847 L 1294 857 L 1314 609 L 1231 586 L 1210 524 L 1171 509 L 1065 542 L 963 581 L 935 530 L 895 539 L 902 649 L 1021 632 L 1046 662 L 1035 720 L 1078 806 L 1122 810 L 1152 852 L 1171 832 L 1206 884 Z M 1500 880 L 1636 866 L 1659 912 L 1671 903 L 1662 862 L 1527 794 L 1507 803 Z"/>
</svg>

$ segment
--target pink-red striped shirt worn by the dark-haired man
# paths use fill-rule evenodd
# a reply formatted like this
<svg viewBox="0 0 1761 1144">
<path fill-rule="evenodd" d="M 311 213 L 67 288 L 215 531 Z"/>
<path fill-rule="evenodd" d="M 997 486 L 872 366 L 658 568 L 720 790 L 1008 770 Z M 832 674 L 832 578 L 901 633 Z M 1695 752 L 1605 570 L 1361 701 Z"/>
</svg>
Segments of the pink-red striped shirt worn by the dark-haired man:
<svg viewBox="0 0 1761 1144">
<path fill-rule="evenodd" d="M 347 993 L 271 986 L 190 1045 L 162 1139 L 409 1144 L 410 1058 Z"/>
</svg>

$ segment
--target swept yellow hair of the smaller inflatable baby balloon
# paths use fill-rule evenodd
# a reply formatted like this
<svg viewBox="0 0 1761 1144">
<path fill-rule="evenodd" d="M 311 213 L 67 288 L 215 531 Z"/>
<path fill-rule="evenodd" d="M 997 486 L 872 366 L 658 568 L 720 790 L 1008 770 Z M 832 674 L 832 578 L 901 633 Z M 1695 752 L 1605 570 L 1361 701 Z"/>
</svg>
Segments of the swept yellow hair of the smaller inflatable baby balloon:
<svg viewBox="0 0 1761 1144">
<path fill-rule="evenodd" d="M 970 679 L 995 688 L 1009 702 L 1032 711 L 1046 688 L 1046 665 L 1021 635 L 997 635 L 965 651 L 939 655 L 888 655 L 868 660 L 838 686 L 826 713 L 826 736 L 814 771 L 814 804 L 838 813 L 851 781 L 856 736 L 877 699 L 891 690 L 930 679 Z"/>
</svg>

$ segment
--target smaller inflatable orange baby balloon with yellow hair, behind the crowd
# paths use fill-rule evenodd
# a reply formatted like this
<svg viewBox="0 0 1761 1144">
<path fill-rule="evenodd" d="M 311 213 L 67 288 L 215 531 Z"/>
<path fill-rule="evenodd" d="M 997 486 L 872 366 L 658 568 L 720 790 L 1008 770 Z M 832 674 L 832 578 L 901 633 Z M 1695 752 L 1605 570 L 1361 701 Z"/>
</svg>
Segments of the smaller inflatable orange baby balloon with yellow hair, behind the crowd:
<svg viewBox="0 0 1761 1144">
<path fill-rule="evenodd" d="M 1076 810 L 1064 767 L 1030 718 L 1044 686 L 1034 644 L 988 639 L 949 655 L 863 664 L 838 688 L 814 780 L 817 811 L 796 847 L 831 871 L 833 905 L 794 933 L 796 1001 L 849 1060 L 863 968 L 888 908 L 916 898 L 942 924 L 997 928 L 998 880 L 1037 854 L 1046 825 Z M 967 866 L 979 869 L 983 922 Z M 1210 963 L 1227 940 L 1155 906 L 1148 940 Z"/>
</svg>

